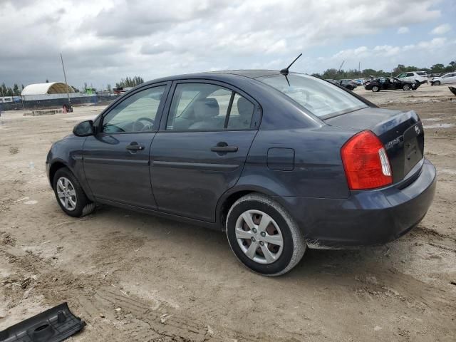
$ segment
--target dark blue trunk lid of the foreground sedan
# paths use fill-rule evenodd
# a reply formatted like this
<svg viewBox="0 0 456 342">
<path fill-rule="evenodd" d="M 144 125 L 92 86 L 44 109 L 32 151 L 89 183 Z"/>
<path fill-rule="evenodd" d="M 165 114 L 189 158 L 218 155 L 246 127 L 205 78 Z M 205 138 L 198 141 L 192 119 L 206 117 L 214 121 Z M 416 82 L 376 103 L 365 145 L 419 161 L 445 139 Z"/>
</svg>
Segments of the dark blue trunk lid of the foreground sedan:
<svg viewBox="0 0 456 342">
<path fill-rule="evenodd" d="M 393 173 L 400 182 L 424 156 L 424 130 L 418 114 L 410 110 L 363 108 L 324 120 L 332 126 L 371 130 L 385 146 Z"/>
</svg>

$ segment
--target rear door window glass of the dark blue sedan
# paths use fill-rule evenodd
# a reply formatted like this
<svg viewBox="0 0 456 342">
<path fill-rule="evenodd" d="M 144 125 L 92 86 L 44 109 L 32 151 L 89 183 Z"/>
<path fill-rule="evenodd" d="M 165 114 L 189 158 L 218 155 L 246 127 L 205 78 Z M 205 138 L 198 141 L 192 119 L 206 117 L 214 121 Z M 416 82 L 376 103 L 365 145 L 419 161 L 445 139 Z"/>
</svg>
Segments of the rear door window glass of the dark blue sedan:
<svg viewBox="0 0 456 342">
<path fill-rule="evenodd" d="M 249 129 L 254 104 L 227 88 L 180 83 L 175 88 L 166 130 Z"/>
</svg>

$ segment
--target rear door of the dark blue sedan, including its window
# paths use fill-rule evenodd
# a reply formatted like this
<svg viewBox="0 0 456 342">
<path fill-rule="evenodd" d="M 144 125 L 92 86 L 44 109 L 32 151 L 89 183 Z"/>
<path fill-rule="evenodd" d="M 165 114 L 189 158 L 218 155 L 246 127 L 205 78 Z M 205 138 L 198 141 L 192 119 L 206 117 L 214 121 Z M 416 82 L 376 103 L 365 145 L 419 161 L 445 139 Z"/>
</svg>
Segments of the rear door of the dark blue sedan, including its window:
<svg viewBox="0 0 456 342">
<path fill-rule="evenodd" d="M 217 201 L 241 175 L 261 109 L 241 90 L 215 81 L 179 81 L 171 93 L 152 142 L 157 206 L 214 222 Z"/>
</svg>

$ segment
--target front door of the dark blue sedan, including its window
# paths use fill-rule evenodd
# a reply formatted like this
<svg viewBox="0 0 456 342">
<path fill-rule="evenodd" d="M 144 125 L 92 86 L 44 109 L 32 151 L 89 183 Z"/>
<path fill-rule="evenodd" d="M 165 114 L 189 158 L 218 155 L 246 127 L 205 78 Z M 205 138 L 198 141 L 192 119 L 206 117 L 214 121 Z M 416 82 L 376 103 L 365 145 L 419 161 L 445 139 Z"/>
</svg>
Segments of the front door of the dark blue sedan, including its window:
<svg viewBox="0 0 456 342">
<path fill-rule="evenodd" d="M 84 143 L 83 165 L 98 202 L 157 207 L 150 185 L 150 145 L 157 132 L 169 83 L 126 93 L 95 121 Z"/>
</svg>

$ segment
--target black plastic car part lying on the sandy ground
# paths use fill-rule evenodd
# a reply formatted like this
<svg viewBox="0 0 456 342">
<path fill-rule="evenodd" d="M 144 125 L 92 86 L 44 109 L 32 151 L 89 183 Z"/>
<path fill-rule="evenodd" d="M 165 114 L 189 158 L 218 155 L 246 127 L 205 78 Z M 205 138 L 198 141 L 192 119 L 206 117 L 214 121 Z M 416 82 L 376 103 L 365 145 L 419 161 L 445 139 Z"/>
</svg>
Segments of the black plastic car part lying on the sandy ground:
<svg viewBox="0 0 456 342">
<path fill-rule="evenodd" d="M 0 342 L 59 342 L 84 326 L 86 322 L 63 303 L 0 331 Z"/>
</svg>

